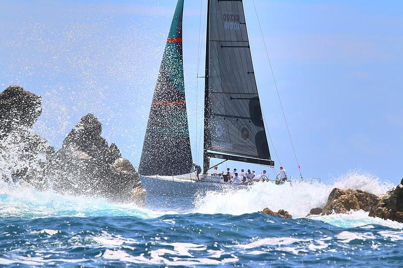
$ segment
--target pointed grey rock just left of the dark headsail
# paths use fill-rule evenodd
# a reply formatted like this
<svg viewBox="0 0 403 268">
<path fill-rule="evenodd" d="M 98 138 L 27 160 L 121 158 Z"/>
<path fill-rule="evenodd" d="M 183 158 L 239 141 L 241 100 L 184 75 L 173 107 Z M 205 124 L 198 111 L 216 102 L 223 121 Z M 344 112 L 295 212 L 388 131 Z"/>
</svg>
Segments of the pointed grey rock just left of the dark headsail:
<svg viewBox="0 0 403 268">
<path fill-rule="evenodd" d="M 145 190 L 135 168 L 121 157 L 115 144 L 108 146 L 101 131 L 102 124 L 92 114 L 84 116 L 72 129 L 46 168 L 52 188 L 71 195 L 144 203 Z"/>
</svg>

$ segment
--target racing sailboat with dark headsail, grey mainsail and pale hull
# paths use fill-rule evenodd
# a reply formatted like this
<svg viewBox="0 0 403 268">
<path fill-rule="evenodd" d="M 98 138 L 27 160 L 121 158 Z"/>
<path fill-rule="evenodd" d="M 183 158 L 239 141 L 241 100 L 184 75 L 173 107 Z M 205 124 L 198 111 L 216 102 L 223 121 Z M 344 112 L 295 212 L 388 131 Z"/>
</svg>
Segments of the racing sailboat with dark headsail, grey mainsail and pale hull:
<svg viewBox="0 0 403 268">
<path fill-rule="evenodd" d="M 178 0 L 151 103 L 139 173 L 148 193 L 191 195 L 242 186 L 209 175 L 210 159 L 274 167 L 242 1 L 208 0 L 203 174 L 192 173 Z"/>
</svg>

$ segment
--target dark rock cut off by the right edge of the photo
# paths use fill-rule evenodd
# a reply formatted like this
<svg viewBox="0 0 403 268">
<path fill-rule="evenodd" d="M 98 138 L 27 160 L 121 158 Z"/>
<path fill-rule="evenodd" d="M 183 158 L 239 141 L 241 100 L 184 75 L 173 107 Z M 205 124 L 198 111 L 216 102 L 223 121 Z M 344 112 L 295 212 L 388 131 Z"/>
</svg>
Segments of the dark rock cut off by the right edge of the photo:
<svg viewBox="0 0 403 268">
<path fill-rule="evenodd" d="M 390 219 L 403 223 L 403 185 L 389 190 L 369 212 L 371 217 Z"/>
</svg>

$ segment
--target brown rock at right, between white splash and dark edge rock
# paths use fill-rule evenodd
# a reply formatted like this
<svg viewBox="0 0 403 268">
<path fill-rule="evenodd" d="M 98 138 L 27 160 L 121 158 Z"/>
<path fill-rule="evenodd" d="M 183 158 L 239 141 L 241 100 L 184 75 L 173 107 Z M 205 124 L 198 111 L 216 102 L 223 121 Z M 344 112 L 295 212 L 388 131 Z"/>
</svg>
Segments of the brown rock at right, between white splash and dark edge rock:
<svg viewBox="0 0 403 268">
<path fill-rule="evenodd" d="M 373 194 L 361 190 L 341 190 L 334 188 L 327 199 L 327 204 L 323 208 L 323 214 L 349 213 L 350 210 L 369 211 L 378 202 L 379 198 Z"/>
</svg>

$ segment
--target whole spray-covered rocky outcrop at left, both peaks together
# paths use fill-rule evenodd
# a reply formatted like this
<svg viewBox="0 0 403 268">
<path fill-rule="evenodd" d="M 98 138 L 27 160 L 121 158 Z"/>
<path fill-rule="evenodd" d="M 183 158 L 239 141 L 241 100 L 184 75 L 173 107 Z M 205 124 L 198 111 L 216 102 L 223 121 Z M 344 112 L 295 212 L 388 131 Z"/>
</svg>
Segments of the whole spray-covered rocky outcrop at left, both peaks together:
<svg viewBox="0 0 403 268">
<path fill-rule="evenodd" d="M 0 93 L 0 171 L 5 181 L 19 181 L 42 191 L 99 196 L 143 205 L 146 191 L 138 173 L 117 146 L 101 137 L 102 124 L 88 114 L 54 151 L 32 131 L 42 113 L 41 98 L 19 85 Z"/>
</svg>

